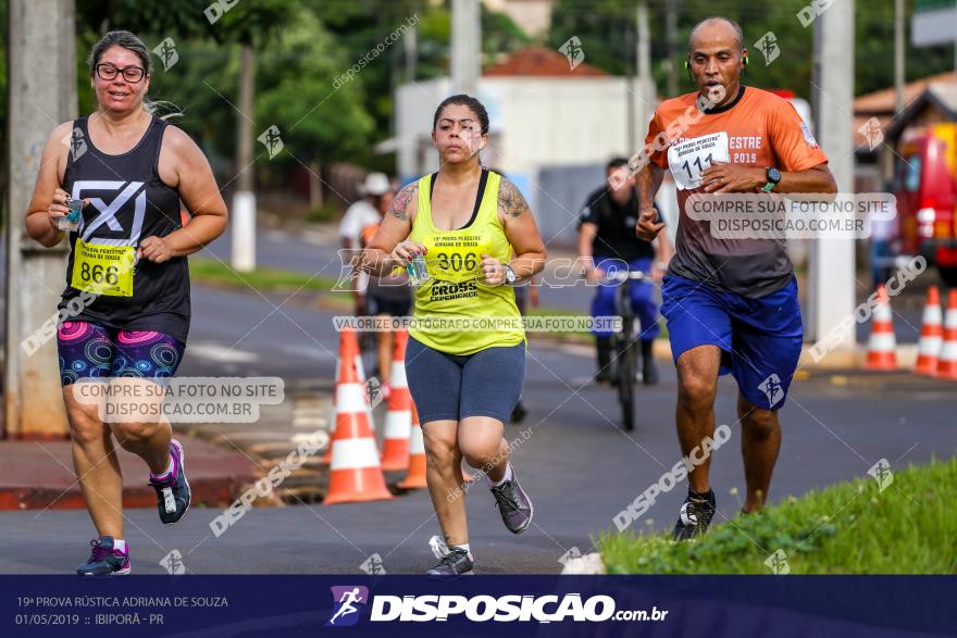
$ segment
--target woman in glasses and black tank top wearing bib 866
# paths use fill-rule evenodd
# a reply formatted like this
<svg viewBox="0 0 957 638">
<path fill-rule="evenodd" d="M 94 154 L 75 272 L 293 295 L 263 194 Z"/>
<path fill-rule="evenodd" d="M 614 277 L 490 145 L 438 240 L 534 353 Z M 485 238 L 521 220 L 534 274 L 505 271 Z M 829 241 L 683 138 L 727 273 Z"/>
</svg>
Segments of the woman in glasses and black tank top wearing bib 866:
<svg viewBox="0 0 957 638">
<path fill-rule="evenodd" d="M 189 508 L 185 453 L 157 416 L 156 384 L 175 373 L 189 331 L 186 255 L 226 227 L 206 157 L 145 108 L 150 67 L 149 50 L 128 32 L 110 32 L 95 45 L 89 79 L 97 111 L 50 135 L 26 213 L 38 242 L 70 242 L 57 336 L 75 470 L 97 528 L 92 552 L 76 570 L 85 576 L 129 573 L 113 437 L 149 466 L 163 523 L 176 523 Z M 67 200 L 83 208 L 65 233 Z M 77 383 L 91 380 L 105 383 Z M 107 403 L 113 410 L 104 412 Z"/>
</svg>

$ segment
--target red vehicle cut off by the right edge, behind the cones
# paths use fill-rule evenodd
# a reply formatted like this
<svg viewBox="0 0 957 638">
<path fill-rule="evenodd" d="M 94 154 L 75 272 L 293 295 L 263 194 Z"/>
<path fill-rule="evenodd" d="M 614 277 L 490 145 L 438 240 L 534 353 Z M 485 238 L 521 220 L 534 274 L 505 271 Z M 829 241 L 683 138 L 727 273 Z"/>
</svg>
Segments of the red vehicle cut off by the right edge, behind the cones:
<svg viewBox="0 0 957 638">
<path fill-rule="evenodd" d="M 900 252 L 922 254 L 957 286 L 957 124 L 932 124 L 900 138 L 894 195 Z"/>
</svg>

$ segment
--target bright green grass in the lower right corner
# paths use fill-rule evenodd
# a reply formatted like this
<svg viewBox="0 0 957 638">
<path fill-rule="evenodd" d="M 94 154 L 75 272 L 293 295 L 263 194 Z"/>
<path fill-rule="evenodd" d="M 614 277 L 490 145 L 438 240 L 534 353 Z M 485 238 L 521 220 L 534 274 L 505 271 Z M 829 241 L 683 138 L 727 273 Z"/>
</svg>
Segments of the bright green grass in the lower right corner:
<svg viewBox="0 0 957 638">
<path fill-rule="evenodd" d="M 733 511 L 734 497 L 718 498 Z M 768 574 L 776 550 L 793 574 L 955 574 L 955 502 L 952 460 L 894 471 L 883 492 L 866 476 L 791 498 L 693 542 L 625 533 L 604 535 L 599 546 L 610 574 Z"/>
</svg>

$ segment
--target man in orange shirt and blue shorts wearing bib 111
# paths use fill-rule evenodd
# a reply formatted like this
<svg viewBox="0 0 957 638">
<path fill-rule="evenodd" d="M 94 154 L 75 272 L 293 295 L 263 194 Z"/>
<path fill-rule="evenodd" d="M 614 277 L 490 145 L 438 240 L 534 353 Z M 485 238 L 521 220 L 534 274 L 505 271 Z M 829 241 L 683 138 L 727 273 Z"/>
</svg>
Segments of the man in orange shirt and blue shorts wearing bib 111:
<svg viewBox="0 0 957 638">
<path fill-rule="evenodd" d="M 712 237 L 708 220 L 687 214 L 687 198 L 836 192 L 828 158 L 810 128 L 786 100 L 742 85 L 746 66 L 736 23 L 709 17 L 694 28 L 687 70 L 698 90 L 658 107 L 646 138 L 647 163 L 637 179 L 639 237 L 650 241 L 663 227 L 651 202 L 666 170 L 679 189 L 681 209 L 676 253 L 661 287 L 661 313 L 678 368 L 678 436 L 682 453 L 696 466 L 688 473 L 676 540 L 704 534 L 714 514 L 706 438 L 714 435 L 719 374 L 733 374 L 738 387 L 744 512 L 763 506 L 781 445 L 778 409 L 803 339 L 797 282 L 784 239 Z"/>
</svg>

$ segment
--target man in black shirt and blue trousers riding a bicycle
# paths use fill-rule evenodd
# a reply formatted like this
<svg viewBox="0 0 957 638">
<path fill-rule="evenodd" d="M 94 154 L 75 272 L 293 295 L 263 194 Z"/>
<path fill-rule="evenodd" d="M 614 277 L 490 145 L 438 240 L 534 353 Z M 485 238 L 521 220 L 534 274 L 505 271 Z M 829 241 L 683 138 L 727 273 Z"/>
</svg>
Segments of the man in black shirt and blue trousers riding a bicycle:
<svg viewBox="0 0 957 638">
<path fill-rule="evenodd" d="M 610 177 L 626 164 L 627 160 L 623 158 L 611 160 L 606 166 L 606 176 Z M 636 236 L 639 210 L 634 177 L 624 180 L 618 189 L 597 188 L 585 201 L 579 222 L 579 259 L 580 263 L 585 264 L 588 283 L 598 283 L 592 300 L 593 317 L 614 314 L 616 288 L 623 283 L 602 282 L 608 271 L 627 267 L 642 271 L 658 280 L 659 273 L 668 263 L 672 250 L 667 234 L 659 236 L 657 248 Z M 655 290 L 648 280 L 631 282 L 629 286 L 632 309 L 642 326 L 638 333 L 642 342 L 642 380 L 647 385 L 656 384 L 658 371 L 651 354 L 651 345 L 659 333 Z M 606 383 L 611 380 L 611 333 L 593 330 L 593 334 L 598 350 L 598 374 L 595 378 Z"/>
</svg>

